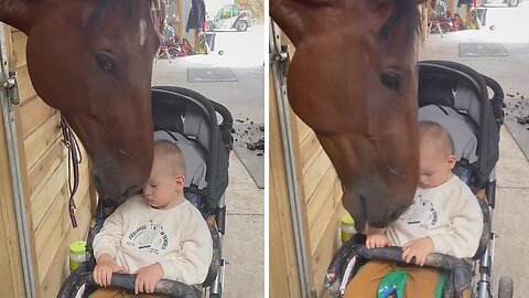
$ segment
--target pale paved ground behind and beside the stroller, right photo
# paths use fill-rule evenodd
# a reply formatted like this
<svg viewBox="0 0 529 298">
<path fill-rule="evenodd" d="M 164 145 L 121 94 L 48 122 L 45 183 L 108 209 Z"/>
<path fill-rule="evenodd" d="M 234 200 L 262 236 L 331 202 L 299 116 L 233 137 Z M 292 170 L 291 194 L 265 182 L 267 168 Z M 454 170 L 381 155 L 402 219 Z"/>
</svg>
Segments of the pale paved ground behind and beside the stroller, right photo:
<svg viewBox="0 0 529 298">
<path fill-rule="evenodd" d="M 441 39 L 430 35 L 421 50 L 421 60 L 442 58 L 464 63 L 497 79 L 509 104 L 527 104 L 529 97 L 529 1 L 518 8 L 489 7 L 486 28 L 479 31 L 453 32 Z M 490 30 L 494 25 L 494 30 Z M 458 57 L 457 45 L 461 42 L 499 42 L 509 56 L 501 57 Z M 521 98 L 523 96 L 523 98 Z M 509 115 L 508 117 L 511 117 Z M 510 129 L 519 132 L 517 141 L 527 143 L 529 131 L 526 127 L 512 124 Z M 511 134 L 504 127 L 500 135 L 500 158 L 497 164 L 497 207 L 494 216 L 496 240 L 494 259 L 494 288 L 503 275 L 509 275 L 515 281 L 515 297 L 528 297 L 529 284 L 526 281 L 529 254 L 527 228 L 529 210 L 529 163 Z"/>
</svg>

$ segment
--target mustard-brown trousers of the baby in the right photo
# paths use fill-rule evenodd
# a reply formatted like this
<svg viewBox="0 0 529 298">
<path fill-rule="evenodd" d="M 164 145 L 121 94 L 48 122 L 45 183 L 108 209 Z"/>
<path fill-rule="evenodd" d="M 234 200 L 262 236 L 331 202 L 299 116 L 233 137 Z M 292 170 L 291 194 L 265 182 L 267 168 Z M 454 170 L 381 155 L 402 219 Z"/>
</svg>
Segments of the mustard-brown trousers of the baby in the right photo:
<svg viewBox="0 0 529 298">
<path fill-rule="evenodd" d="M 434 298 L 440 272 L 428 267 L 398 266 L 396 262 L 370 260 L 364 265 L 345 289 L 345 298 L 376 298 L 378 284 L 391 272 L 406 270 L 404 298 Z"/>
</svg>

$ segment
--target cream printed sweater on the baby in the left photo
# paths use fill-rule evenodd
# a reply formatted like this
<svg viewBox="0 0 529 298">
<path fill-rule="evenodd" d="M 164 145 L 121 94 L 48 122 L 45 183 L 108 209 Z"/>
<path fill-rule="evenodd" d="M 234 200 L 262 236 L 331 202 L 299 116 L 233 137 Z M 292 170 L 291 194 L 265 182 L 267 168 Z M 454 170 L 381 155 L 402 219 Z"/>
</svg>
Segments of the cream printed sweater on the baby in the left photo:
<svg viewBox="0 0 529 298">
<path fill-rule="evenodd" d="M 155 210 L 141 195 L 120 205 L 94 240 L 96 258 L 110 254 L 129 274 L 159 263 L 163 278 L 187 285 L 202 284 L 213 255 L 206 222 L 188 201 Z"/>
</svg>

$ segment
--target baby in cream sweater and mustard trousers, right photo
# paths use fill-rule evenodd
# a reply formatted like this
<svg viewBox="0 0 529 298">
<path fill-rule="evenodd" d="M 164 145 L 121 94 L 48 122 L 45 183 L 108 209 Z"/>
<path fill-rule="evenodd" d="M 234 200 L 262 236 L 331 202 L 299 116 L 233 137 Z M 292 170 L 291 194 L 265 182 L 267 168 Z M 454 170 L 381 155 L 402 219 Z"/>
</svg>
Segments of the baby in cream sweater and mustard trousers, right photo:
<svg viewBox="0 0 529 298">
<path fill-rule="evenodd" d="M 431 253 L 472 257 L 483 232 L 483 215 L 468 187 L 452 173 L 456 158 L 452 140 L 435 123 L 419 123 L 420 180 L 411 206 L 384 230 L 367 227 L 367 248 L 402 246 L 402 260 L 371 260 L 347 286 L 345 297 L 375 297 L 380 280 L 397 269 L 406 270 L 404 297 L 434 297 L 440 273 L 422 267 Z"/>
</svg>

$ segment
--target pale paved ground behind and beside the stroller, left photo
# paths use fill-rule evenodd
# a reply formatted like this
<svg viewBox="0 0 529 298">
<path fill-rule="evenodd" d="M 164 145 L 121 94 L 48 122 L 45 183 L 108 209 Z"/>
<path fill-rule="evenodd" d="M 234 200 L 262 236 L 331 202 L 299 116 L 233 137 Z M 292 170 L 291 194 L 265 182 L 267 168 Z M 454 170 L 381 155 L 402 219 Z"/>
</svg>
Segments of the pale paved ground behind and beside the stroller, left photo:
<svg viewBox="0 0 529 298">
<path fill-rule="evenodd" d="M 159 60 L 153 68 L 153 85 L 191 88 L 215 99 L 235 119 L 264 123 L 264 29 L 248 32 L 217 32 L 215 52 L 180 57 L 169 63 Z M 218 55 L 218 51 L 224 51 Z M 187 83 L 187 68 L 227 67 L 237 82 Z M 262 163 L 261 157 L 261 163 Z M 224 238 L 226 277 L 224 297 L 263 297 L 264 294 L 264 190 L 258 189 L 233 152 L 229 187 L 226 191 L 227 220 Z"/>
</svg>

